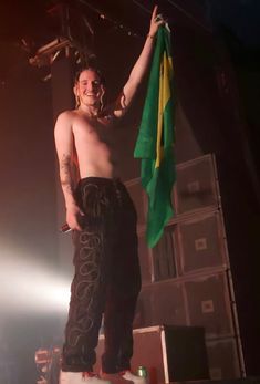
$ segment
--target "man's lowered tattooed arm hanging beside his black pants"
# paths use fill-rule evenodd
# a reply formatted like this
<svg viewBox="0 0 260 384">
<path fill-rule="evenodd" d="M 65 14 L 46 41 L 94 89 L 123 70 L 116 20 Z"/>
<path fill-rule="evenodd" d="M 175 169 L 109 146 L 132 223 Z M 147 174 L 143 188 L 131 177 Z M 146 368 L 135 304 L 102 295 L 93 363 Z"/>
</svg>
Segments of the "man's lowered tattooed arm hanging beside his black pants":
<svg viewBox="0 0 260 384">
<path fill-rule="evenodd" d="M 70 121 L 70 112 L 63 112 L 60 114 L 54 128 L 54 137 L 59 158 L 61 186 L 65 199 L 66 222 L 71 229 L 81 230 L 77 218 L 83 214 L 77 207 L 73 195 L 73 134 Z"/>
</svg>

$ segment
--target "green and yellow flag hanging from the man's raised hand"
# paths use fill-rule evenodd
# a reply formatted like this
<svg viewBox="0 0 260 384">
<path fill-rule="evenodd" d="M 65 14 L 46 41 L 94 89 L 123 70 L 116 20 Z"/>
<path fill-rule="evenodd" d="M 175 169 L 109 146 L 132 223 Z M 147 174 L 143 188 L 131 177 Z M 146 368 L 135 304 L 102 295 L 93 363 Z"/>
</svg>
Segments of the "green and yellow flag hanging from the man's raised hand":
<svg viewBox="0 0 260 384">
<path fill-rule="evenodd" d="M 174 214 L 171 190 L 175 183 L 175 127 L 170 32 L 157 32 L 148 90 L 134 156 L 142 159 L 142 185 L 148 195 L 146 239 L 154 247 Z"/>
</svg>

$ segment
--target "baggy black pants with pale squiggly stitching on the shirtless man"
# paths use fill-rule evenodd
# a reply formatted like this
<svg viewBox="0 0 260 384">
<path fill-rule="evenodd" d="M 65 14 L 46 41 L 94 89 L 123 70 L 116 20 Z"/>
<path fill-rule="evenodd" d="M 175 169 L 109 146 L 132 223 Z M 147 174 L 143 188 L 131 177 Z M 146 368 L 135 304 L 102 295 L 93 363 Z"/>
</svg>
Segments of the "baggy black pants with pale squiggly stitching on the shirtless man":
<svg viewBox="0 0 260 384">
<path fill-rule="evenodd" d="M 75 276 L 71 286 L 62 370 L 92 371 L 104 313 L 102 370 L 129 369 L 132 324 L 141 273 L 136 211 L 117 179 L 87 177 L 75 198 L 84 211 L 83 231 L 73 232 Z"/>
</svg>

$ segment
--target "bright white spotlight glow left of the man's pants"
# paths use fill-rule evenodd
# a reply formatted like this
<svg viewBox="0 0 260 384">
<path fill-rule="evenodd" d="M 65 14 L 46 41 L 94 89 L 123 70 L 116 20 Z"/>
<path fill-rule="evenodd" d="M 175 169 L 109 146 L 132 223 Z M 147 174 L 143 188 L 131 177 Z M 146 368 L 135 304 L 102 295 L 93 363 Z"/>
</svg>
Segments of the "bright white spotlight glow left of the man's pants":
<svg viewBox="0 0 260 384">
<path fill-rule="evenodd" d="M 70 300 L 69 279 L 40 263 L 0 256 L 1 312 L 63 313 Z"/>
</svg>

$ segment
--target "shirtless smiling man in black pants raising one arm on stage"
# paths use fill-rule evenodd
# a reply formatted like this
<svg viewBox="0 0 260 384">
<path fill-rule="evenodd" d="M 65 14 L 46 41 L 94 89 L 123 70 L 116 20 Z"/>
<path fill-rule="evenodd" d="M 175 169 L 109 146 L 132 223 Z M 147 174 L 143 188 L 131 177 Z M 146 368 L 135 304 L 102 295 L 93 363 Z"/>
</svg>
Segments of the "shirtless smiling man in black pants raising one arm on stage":
<svg viewBox="0 0 260 384">
<path fill-rule="evenodd" d="M 142 53 L 113 107 L 103 106 L 105 89 L 98 71 L 83 69 L 74 85 L 77 108 L 61 113 L 55 124 L 66 222 L 75 246 L 60 384 L 107 384 L 113 375 L 144 383 L 131 373 L 129 363 L 132 324 L 141 289 L 136 211 L 126 188 L 115 178 L 114 154 L 106 136 L 113 134 L 113 123 L 133 101 L 163 23 L 155 7 Z M 73 163 L 80 176 L 77 186 Z M 102 314 L 105 351 L 102 375 L 97 376 L 93 365 Z"/>
</svg>

